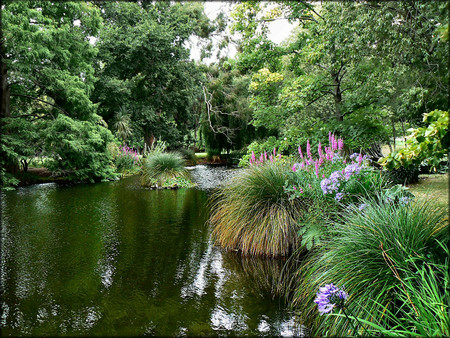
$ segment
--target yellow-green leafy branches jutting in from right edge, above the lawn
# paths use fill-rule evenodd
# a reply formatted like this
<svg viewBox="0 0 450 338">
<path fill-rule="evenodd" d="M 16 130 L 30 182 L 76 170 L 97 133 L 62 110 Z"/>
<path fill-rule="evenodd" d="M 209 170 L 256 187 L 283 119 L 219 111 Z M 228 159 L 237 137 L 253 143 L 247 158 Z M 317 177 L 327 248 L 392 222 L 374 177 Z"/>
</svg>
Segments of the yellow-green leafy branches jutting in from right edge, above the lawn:
<svg viewBox="0 0 450 338">
<path fill-rule="evenodd" d="M 450 136 L 448 133 L 448 112 L 434 110 L 424 114 L 423 122 L 428 125 L 411 129 L 411 135 L 406 141 L 406 147 L 390 153 L 380 159 L 387 169 L 418 167 L 425 163 L 434 170 L 448 155 Z"/>
</svg>

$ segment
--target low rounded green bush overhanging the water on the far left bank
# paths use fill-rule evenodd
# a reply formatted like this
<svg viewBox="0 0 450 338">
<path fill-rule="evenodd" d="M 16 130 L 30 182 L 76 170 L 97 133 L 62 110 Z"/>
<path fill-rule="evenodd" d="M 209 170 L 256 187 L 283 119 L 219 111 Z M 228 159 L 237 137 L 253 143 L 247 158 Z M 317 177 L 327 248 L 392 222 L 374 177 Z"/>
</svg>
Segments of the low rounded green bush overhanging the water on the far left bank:
<svg viewBox="0 0 450 338">
<path fill-rule="evenodd" d="M 74 180 L 104 180 L 114 177 L 112 156 L 107 151 L 114 140 L 111 132 L 92 122 L 59 115 L 42 130 L 45 153 L 52 158 L 49 169 Z"/>
</svg>

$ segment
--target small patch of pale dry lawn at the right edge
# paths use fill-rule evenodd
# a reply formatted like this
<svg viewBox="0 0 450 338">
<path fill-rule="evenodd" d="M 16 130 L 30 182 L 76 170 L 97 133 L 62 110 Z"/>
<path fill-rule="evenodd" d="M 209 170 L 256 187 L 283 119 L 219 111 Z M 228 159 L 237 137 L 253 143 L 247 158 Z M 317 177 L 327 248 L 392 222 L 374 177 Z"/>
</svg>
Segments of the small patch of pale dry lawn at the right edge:
<svg viewBox="0 0 450 338">
<path fill-rule="evenodd" d="M 420 175 L 419 183 L 411 184 L 409 189 L 418 198 L 429 199 L 439 207 L 448 207 L 448 173 Z"/>
</svg>

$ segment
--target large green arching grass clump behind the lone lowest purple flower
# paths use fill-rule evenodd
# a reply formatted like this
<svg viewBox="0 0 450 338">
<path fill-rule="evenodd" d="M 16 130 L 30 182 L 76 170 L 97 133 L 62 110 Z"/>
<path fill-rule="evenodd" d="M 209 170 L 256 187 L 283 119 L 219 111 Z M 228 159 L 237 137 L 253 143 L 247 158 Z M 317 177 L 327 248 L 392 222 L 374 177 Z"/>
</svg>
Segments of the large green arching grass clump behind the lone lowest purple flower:
<svg viewBox="0 0 450 338">
<path fill-rule="evenodd" d="M 371 327 L 364 321 L 386 325 L 383 314 L 404 304 L 396 297 L 403 288 L 401 280 L 417 271 L 411 259 L 416 263 L 420 257 L 423 262 L 444 259 L 436 240 L 448 240 L 445 209 L 423 200 L 402 205 L 383 196 L 362 202 L 365 208 L 351 207 L 332 224 L 328 238 L 295 274 L 293 301 L 302 308 L 305 325 L 313 334 L 354 335 L 355 324 L 359 334 L 368 334 Z M 345 287 L 347 312 L 361 322 L 319 315 L 313 300 L 319 287 L 329 283 Z"/>
</svg>

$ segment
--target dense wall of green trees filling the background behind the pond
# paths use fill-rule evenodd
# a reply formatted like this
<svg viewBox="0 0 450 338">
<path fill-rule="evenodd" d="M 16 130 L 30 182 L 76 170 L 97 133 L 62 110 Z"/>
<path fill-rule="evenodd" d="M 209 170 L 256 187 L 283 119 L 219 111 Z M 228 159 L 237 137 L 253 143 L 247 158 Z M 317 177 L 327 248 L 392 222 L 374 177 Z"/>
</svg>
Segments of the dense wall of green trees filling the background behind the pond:
<svg viewBox="0 0 450 338">
<path fill-rule="evenodd" d="M 382 143 L 422 127 L 424 113 L 448 111 L 447 10 L 443 2 L 246 1 L 212 21 L 200 2 L 6 1 L 4 183 L 33 157 L 77 156 L 56 155 L 45 141 L 59 115 L 107 128 L 139 153 L 161 139 L 211 156 L 274 147 L 287 155 L 308 139 L 323 144 L 331 130 L 349 153 L 377 159 Z M 275 44 L 269 23 L 280 18 L 298 25 Z M 219 48 L 235 43 L 235 58 L 189 59 L 191 37 L 208 56 L 218 34 Z M 66 162 L 64 170 L 79 169 Z M 98 169 L 78 177 L 112 177 L 104 164 L 85 162 Z"/>
</svg>

